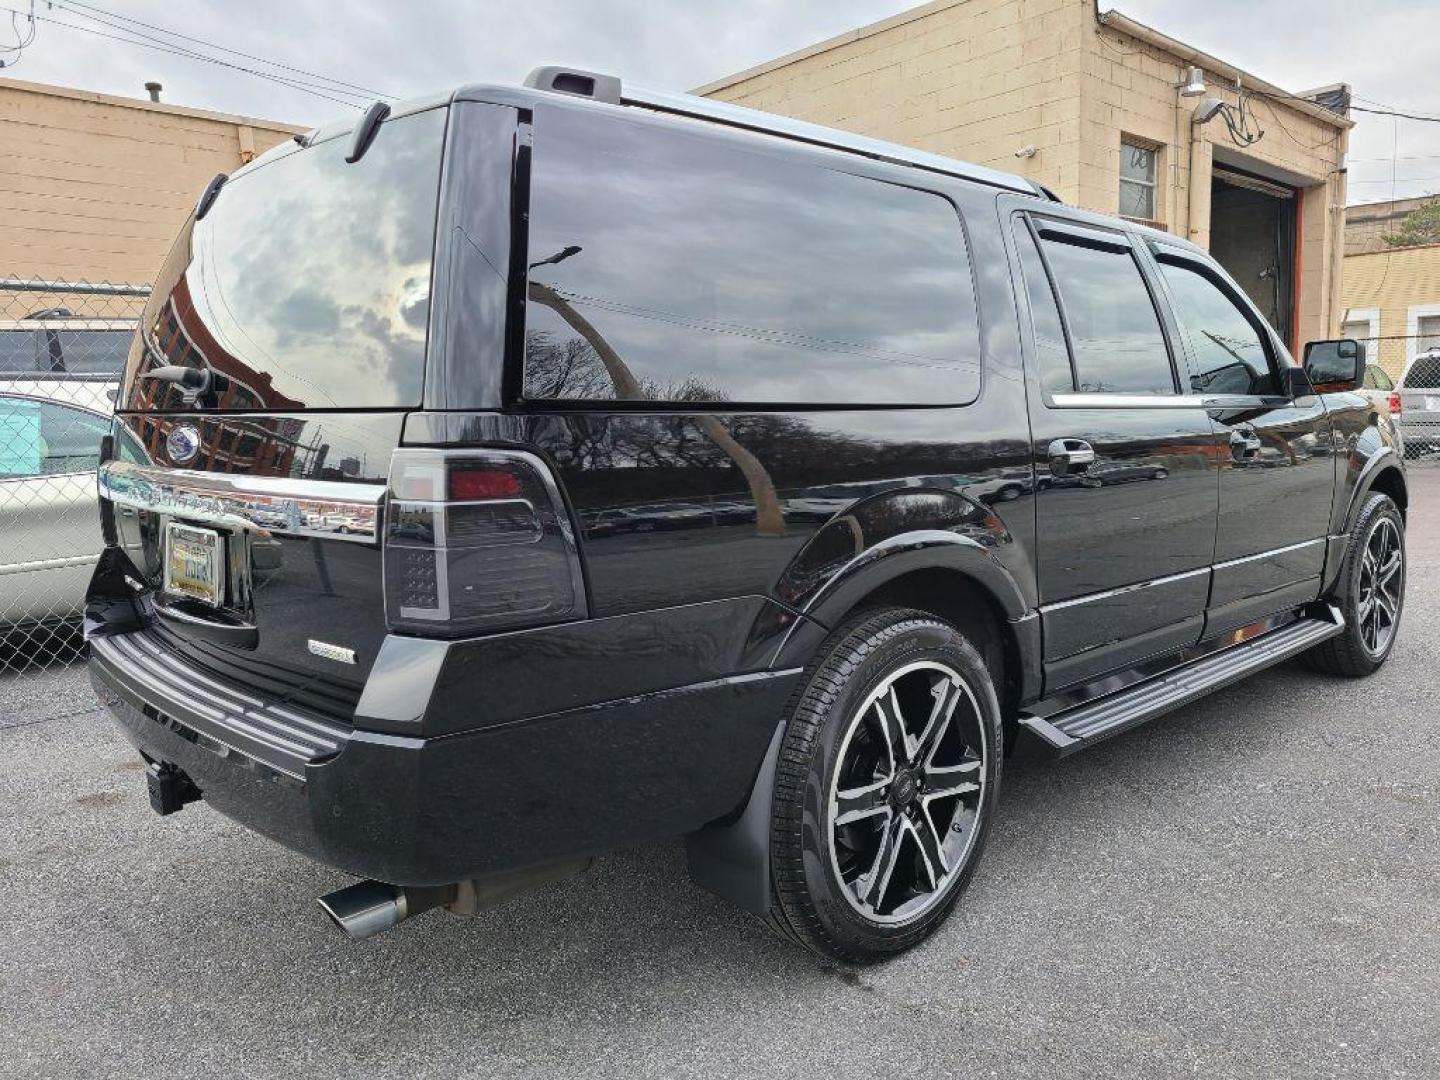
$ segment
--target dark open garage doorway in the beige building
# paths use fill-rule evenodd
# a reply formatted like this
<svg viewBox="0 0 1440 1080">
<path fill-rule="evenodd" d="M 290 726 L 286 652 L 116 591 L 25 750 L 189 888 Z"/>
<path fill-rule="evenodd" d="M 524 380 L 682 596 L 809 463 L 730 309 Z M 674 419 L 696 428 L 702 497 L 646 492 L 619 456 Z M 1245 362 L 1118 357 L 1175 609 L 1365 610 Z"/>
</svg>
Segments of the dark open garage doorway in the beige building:
<svg viewBox="0 0 1440 1080">
<path fill-rule="evenodd" d="M 1210 253 L 1240 284 L 1292 351 L 1299 192 L 1217 164 L 1210 189 Z"/>
</svg>

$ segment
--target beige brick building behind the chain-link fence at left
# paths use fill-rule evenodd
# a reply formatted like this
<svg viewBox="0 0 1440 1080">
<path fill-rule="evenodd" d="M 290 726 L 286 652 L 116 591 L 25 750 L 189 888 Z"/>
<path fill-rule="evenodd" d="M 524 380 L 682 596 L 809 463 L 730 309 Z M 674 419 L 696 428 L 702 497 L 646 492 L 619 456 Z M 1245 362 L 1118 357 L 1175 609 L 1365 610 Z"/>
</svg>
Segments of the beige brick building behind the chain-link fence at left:
<svg viewBox="0 0 1440 1080">
<path fill-rule="evenodd" d="M 148 282 L 210 177 L 297 131 L 0 79 L 0 278 Z"/>
</svg>

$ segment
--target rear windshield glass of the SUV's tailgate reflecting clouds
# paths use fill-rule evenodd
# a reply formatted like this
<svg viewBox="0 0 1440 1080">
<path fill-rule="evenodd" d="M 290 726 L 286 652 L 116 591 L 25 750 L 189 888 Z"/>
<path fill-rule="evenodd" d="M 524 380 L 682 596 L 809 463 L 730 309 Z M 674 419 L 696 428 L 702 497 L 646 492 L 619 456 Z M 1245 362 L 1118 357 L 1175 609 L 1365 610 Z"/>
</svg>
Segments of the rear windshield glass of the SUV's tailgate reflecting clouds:
<svg viewBox="0 0 1440 1080">
<path fill-rule="evenodd" d="M 130 374 L 210 367 L 226 410 L 420 403 L 445 109 L 380 125 L 354 164 L 341 135 L 220 189 L 176 242 Z M 132 409 L 180 408 L 131 380 Z"/>
</svg>

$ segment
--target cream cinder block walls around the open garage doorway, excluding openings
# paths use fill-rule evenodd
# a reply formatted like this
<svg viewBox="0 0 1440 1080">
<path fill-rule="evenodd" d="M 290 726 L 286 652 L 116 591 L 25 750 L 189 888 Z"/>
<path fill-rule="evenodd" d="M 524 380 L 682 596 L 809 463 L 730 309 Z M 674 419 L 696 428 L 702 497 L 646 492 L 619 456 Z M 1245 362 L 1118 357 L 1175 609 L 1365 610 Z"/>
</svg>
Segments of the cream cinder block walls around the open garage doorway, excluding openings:
<svg viewBox="0 0 1440 1080">
<path fill-rule="evenodd" d="M 1119 207 L 1120 140 L 1130 135 L 1159 151 L 1156 219 L 1201 246 L 1210 243 L 1211 167 L 1223 144 L 1302 189 L 1300 340 L 1329 337 L 1339 312 L 1346 131 L 1253 96 L 1264 138 L 1240 150 L 1217 118 L 1194 128 L 1192 143 L 1195 99 L 1176 91 L 1191 62 L 1099 26 L 1093 0 L 936 0 L 697 92 L 1021 173 L 1104 213 Z M 1233 78 L 1207 71 L 1205 82 L 1237 101 Z M 1024 147 L 1034 156 L 1015 157 Z"/>
</svg>

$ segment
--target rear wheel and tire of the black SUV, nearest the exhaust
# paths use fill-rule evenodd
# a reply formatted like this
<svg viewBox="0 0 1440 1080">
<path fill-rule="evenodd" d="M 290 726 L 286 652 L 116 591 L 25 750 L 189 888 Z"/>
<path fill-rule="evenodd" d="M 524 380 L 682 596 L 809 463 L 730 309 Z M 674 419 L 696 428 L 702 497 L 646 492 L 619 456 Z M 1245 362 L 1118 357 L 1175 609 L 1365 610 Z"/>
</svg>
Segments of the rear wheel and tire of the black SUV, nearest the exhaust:
<svg viewBox="0 0 1440 1080">
<path fill-rule="evenodd" d="M 772 927 L 850 963 L 924 940 L 985 847 L 1002 749 L 989 671 L 958 629 L 900 608 L 844 624 L 792 698 L 780 744 Z"/>
</svg>

